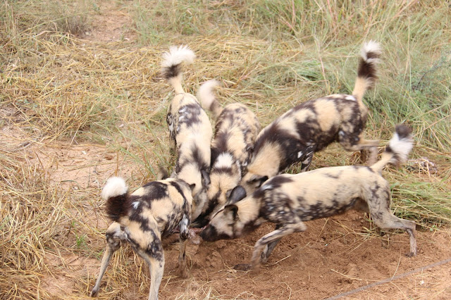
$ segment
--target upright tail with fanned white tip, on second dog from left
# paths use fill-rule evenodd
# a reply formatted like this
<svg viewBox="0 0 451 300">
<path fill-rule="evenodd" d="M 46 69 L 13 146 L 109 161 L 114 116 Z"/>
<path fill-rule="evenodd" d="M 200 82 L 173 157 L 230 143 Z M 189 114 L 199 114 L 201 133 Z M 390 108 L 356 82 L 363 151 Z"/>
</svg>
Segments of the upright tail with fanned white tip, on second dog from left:
<svg viewBox="0 0 451 300">
<path fill-rule="evenodd" d="M 177 94 L 185 92 L 182 87 L 182 63 L 192 63 L 194 58 L 196 55 L 188 46 L 171 46 L 169 52 L 163 54 L 161 72 Z"/>
</svg>

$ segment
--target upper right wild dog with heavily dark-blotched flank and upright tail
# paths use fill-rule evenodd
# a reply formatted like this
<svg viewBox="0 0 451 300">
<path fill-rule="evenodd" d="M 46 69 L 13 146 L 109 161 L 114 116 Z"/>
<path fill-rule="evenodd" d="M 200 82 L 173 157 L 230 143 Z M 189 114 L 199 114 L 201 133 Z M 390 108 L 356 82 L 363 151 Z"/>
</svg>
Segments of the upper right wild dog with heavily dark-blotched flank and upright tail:
<svg viewBox="0 0 451 300">
<path fill-rule="evenodd" d="M 376 42 L 362 47 L 352 96 L 333 94 L 304 102 L 261 130 L 241 183 L 248 194 L 293 163 L 300 161 L 301 172 L 308 170 L 314 152 L 334 141 L 347 151 L 369 149 L 376 157 L 378 141 L 363 137 L 368 110 L 362 98 L 376 80 L 380 53 Z"/>
</svg>

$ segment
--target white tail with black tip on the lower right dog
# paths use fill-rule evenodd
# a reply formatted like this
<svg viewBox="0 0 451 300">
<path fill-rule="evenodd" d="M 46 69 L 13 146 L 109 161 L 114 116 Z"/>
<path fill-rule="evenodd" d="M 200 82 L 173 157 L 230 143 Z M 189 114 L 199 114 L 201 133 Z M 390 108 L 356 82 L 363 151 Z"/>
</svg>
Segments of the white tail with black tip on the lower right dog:
<svg viewBox="0 0 451 300">
<path fill-rule="evenodd" d="M 371 169 L 379 173 L 388 163 L 398 165 L 407 160 L 407 156 L 413 147 L 412 130 L 406 125 L 396 125 L 395 134 L 388 142 L 388 146 L 382 154 L 381 160 L 371 165 Z"/>
</svg>

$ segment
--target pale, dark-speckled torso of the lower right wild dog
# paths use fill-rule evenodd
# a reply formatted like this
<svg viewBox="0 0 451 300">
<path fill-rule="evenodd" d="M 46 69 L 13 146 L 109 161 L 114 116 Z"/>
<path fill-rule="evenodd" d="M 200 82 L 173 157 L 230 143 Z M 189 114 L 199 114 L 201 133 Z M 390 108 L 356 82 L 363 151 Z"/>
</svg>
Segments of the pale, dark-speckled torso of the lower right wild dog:
<svg viewBox="0 0 451 300">
<path fill-rule="evenodd" d="M 278 175 L 264 183 L 261 192 L 261 217 L 271 222 L 289 222 L 292 215 L 275 213 L 288 206 L 299 220 L 309 221 L 344 213 L 371 198 L 390 204 L 390 185 L 366 166 L 321 168 L 296 175 Z M 255 195 L 255 196 L 257 196 Z M 363 201 L 363 202 L 362 202 Z M 364 209 L 368 211 L 368 209 Z M 284 220 L 287 218 L 287 220 Z"/>
</svg>

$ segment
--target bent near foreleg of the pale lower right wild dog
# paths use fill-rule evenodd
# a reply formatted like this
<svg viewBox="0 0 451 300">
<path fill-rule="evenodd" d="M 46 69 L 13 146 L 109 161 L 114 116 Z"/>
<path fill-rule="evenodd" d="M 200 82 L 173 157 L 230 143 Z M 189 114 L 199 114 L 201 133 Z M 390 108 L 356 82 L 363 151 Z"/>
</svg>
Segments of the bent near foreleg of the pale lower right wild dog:
<svg viewBox="0 0 451 300">
<path fill-rule="evenodd" d="M 254 246 L 254 252 L 252 253 L 252 269 L 258 269 L 260 266 L 260 259 L 261 259 L 261 252 L 263 251 L 264 247 L 268 244 L 271 244 L 272 242 L 275 242 L 273 244 L 276 246 L 277 242 L 286 235 L 291 235 L 293 232 L 302 232 L 307 230 L 307 226 L 299 220 L 297 223 L 290 223 L 290 224 L 282 224 L 280 227 L 273 232 L 269 232 L 267 235 L 264 235 L 264 237 L 261 237 L 257 243 L 255 243 Z M 269 245 L 268 245 L 269 249 Z M 271 254 L 271 253 L 270 253 Z"/>
</svg>

